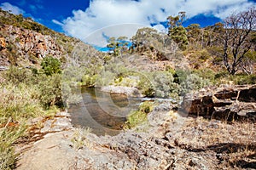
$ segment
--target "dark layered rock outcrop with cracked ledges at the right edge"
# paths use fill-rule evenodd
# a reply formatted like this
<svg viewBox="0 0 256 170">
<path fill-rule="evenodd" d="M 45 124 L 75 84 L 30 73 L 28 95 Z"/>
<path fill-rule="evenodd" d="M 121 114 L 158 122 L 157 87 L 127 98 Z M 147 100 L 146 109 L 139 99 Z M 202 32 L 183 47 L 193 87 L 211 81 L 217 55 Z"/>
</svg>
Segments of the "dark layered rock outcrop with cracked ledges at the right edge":
<svg viewBox="0 0 256 170">
<path fill-rule="evenodd" d="M 183 111 L 194 116 L 236 119 L 256 117 L 256 85 L 202 89 L 188 94 L 182 103 Z"/>
</svg>

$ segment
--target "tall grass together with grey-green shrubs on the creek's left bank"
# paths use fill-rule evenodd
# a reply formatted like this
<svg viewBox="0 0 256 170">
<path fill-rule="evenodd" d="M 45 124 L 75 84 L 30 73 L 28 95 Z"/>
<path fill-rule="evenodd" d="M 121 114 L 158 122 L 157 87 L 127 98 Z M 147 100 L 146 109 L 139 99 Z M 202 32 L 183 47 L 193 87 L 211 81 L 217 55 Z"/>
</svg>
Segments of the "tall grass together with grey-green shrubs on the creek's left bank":
<svg viewBox="0 0 256 170">
<path fill-rule="evenodd" d="M 50 108 L 61 101 L 61 76 L 11 67 L 0 77 L 0 169 L 6 170 L 15 168 L 14 144 L 27 135 L 27 122 L 52 115 Z"/>
</svg>

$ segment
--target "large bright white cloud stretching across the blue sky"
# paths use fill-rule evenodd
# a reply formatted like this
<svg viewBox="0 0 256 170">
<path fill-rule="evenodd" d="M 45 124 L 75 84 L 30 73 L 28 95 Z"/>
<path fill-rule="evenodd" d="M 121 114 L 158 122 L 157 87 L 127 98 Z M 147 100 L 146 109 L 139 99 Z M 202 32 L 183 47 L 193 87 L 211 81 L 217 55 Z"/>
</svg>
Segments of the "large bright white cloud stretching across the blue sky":
<svg viewBox="0 0 256 170">
<path fill-rule="evenodd" d="M 212 14 L 223 19 L 231 12 L 244 10 L 252 5 L 255 3 L 247 0 L 91 0 L 89 8 L 84 11 L 73 10 L 73 16 L 63 20 L 62 28 L 68 35 L 86 41 L 91 32 L 106 26 L 127 23 L 150 26 L 154 23 L 154 28 L 165 31 L 160 22 L 166 21 L 167 16 L 176 15 L 179 11 L 186 11 L 188 17 Z M 114 29 L 115 36 L 124 35 L 119 29 Z M 102 35 L 102 30 L 99 34 Z"/>
</svg>

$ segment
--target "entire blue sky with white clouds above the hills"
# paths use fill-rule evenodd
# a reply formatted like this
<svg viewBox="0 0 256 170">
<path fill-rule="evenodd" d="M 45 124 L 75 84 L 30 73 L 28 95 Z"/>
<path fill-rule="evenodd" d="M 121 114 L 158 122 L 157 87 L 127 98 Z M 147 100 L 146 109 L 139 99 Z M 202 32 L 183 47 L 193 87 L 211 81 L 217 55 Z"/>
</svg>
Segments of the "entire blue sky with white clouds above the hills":
<svg viewBox="0 0 256 170">
<path fill-rule="evenodd" d="M 186 25 L 208 26 L 252 6 L 256 6 L 256 0 L 0 0 L 4 10 L 30 16 L 44 26 L 84 41 L 102 28 L 113 31 L 117 26 L 114 32 L 120 32 L 124 24 L 165 31 L 167 16 L 179 11 L 186 11 Z"/>
</svg>

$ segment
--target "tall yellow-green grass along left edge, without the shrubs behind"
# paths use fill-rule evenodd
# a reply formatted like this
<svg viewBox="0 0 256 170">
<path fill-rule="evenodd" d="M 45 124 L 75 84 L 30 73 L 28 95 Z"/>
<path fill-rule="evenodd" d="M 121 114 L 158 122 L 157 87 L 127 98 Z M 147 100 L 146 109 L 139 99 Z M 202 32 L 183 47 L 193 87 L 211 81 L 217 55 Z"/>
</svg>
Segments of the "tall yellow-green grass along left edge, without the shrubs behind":
<svg viewBox="0 0 256 170">
<path fill-rule="evenodd" d="M 27 120 L 45 113 L 35 86 L 5 82 L 0 85 L 0 95 L 0 169 L 14 169 L 17 155 L 13 144 L 26 135 Z"/>
</svg>

